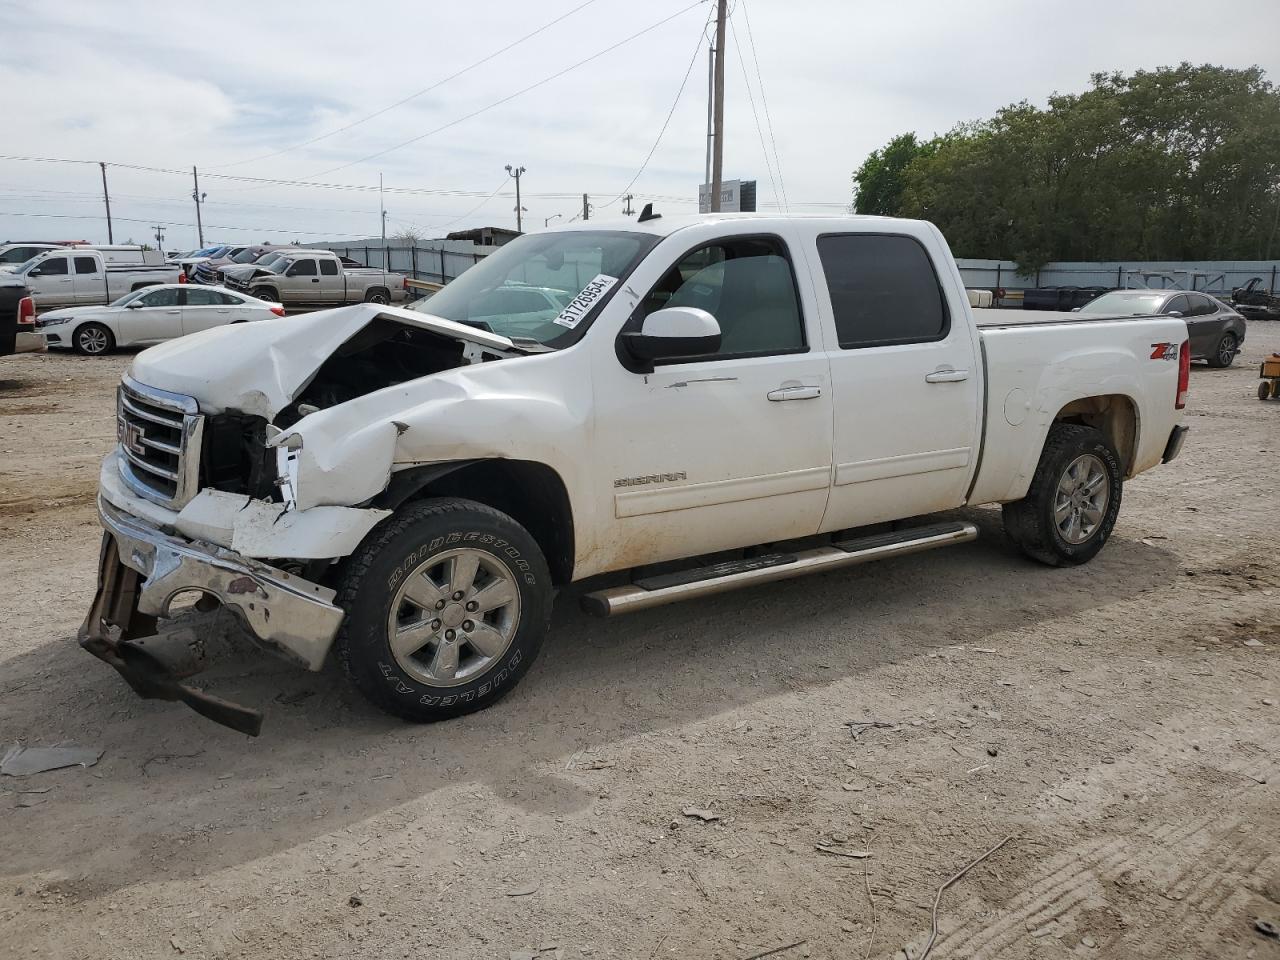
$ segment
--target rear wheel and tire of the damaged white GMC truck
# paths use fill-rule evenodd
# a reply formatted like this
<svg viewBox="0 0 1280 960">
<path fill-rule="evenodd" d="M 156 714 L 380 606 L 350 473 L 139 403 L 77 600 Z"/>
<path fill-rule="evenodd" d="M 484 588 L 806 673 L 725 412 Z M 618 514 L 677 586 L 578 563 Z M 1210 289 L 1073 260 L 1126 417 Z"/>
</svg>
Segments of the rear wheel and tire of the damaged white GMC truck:
<svg viewBox="0 0 1280 960">
<path fill-rule="evenodd" d="M 1100 430 L 1053 424 L 1027 495 L 1004 507 L 1005 531 L 1053 567 L 1093 559 L 1120 513 L 1124 471 Z"/>
</svg>

